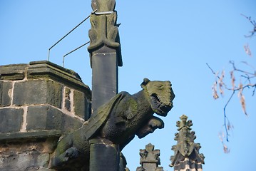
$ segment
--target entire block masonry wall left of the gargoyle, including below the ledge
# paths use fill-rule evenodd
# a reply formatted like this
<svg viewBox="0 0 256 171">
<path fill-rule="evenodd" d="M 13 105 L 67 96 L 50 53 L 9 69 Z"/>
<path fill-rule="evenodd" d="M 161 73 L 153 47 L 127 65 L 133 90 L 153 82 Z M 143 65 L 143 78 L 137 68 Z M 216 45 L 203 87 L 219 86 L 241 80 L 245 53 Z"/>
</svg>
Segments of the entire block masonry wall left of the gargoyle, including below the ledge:
<svg viewBox="0 0 256 171">
<path fill-rule="evenodd" d="M 61 135 L 91 115 L 91 90 L 48 61 L 0 66 L 0 170 L 49 170 Z"/>
</svg>

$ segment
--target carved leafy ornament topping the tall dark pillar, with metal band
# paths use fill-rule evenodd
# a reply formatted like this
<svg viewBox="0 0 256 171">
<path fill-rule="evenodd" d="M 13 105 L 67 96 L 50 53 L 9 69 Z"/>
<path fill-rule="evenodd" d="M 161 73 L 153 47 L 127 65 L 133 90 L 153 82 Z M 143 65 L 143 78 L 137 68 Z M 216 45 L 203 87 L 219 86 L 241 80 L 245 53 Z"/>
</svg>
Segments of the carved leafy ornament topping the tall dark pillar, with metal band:
<svg viewBox="0 0 256 171">
<path fill-rule="evenodd" d="M 89 30 L 90 46 L 88 51 L 92 53 L 104 46 L 116 50 L 118 66 L 123 66 L 121 58 L 121 45 L 118 33 L 117 13 L 114 11 L 115 0 L 93 0 L 91 14 L 91 29 Z"/>
</svg>

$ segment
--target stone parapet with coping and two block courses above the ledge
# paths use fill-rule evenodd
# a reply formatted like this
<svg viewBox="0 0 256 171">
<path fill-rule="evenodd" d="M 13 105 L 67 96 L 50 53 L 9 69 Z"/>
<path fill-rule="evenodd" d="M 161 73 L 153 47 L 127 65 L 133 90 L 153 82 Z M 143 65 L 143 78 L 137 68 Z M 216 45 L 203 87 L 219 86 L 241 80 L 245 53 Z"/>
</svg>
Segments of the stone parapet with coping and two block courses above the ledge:
<svg viewBox="0 0 256 171">
<path fill-rule="evenodd" d="M 66 134 L 88 120 L 91 90 L 77 73 L 48 61 L 0 68 L 0 133 Z"/>
</svg>

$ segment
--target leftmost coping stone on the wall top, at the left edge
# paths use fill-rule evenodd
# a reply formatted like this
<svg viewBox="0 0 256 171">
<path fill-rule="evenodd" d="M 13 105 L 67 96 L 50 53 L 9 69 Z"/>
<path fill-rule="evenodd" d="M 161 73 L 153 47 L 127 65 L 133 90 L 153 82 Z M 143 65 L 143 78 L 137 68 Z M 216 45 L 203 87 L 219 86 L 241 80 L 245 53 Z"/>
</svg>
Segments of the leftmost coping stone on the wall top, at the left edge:
<svg viewBox="0 0 256 171">
<path fill-rule="evenodd" d="M 15 81 L 25 78 L 25 69 L 27 64 L 13 64 L 0 66 L 0 80 Z"/>
</svg>

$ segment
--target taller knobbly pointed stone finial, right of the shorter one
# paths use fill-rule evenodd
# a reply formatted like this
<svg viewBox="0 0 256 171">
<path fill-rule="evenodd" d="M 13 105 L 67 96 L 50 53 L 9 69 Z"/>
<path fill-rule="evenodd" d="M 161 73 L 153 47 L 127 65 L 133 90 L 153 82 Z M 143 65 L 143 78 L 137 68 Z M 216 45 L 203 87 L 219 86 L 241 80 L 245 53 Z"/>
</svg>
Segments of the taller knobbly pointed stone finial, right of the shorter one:
<svg viewBox="0 0 256 171">
<path fill-rule="evenodd" d="M 194 142 L 196 136 L 194 131 L 190 131 L 192 125 L 192 120 L 188 120 L 186 115 L 182 115 L 176 123 L 179 133 L 175 133 L 174 140 L 177 141 L 177 145 L 173 145 L 172 150 L 175 154 L 170 157 L 170 167 L 174 167 L 175 171 L 185 168 L 202 170 L 205 157 L 199 153 L 200 144 Z"/>
</svg>

